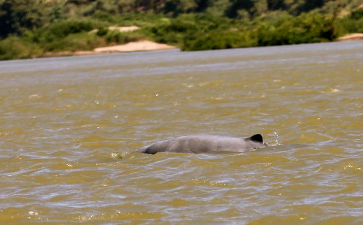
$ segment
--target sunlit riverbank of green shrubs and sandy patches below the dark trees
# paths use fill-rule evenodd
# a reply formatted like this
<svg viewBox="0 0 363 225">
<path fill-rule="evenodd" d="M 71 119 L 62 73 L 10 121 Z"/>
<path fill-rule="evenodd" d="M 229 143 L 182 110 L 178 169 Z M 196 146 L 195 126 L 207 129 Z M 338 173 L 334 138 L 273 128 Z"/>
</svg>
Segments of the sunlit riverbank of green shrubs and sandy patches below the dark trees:
<svg viewBox="0 0 363 225">
<path fill-rule="evenodd" d="M 253 19 L 209 13 L 95 14 L 59 19 L 0 40 L 0 60 L 179 48 L 182 51 L 357 40 L 363 9 L 343 18 L 268 12 Z M 347 36 L 346 34 L 354 34 Z"/>
</svg>

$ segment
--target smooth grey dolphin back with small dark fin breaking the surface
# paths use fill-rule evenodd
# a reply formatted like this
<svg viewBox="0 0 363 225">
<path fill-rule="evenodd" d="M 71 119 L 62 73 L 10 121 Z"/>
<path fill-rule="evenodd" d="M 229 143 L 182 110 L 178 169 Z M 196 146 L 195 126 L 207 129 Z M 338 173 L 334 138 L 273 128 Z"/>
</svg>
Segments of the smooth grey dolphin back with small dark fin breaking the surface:
<svg viewBox="0 0 363 225">
<path fill-rule="evenodd" d="M 158 152 L 174 153 L 216 153 L 222 151 L 244 152 L 249 149 L 264 148 L 261 134 L 248 138 L 222 137 L 213 135 L 192 135 L 158 141 L 141 147 L 134 152 L 155 154 Z"/>
</svg>

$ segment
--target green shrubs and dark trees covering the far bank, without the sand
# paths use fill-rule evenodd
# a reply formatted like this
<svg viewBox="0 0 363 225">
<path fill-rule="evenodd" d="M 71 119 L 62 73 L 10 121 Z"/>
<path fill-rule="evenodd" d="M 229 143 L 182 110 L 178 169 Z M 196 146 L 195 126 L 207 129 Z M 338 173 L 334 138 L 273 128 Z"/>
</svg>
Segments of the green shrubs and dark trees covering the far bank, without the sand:
<svg viewBox="0 0 363 225">
<path fill-rule="evenodd" d="M 141 29 L 108 29 L 132 25 Z M 142 39 L 189 51 L 325 42 L 347 33 L 363 33 L 361 0 L 0 0 L 0 60 Z"/>
</svg>

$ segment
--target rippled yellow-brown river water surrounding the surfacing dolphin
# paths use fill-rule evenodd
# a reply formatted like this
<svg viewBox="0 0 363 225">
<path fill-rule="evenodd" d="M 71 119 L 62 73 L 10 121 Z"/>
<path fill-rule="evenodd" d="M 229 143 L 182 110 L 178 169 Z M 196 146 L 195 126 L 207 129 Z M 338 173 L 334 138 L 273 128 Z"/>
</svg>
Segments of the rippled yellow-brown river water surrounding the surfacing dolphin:
<svg viewBox="0 0 363 225">
<path fill-rule="evenodd" d="M 363 224 L 363 42 L 0 62 L 0 224 Z M 128 154 L 188 134 L 245 153 Z"/>
</svg>

